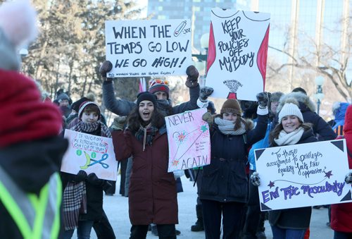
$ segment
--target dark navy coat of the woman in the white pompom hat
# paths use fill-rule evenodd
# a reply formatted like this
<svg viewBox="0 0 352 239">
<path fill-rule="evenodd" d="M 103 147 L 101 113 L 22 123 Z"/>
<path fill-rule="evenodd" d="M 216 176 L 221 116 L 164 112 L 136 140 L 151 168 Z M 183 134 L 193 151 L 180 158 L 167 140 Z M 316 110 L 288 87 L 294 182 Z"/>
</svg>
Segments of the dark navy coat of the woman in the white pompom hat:
<svg viewBox="0 0 352 239">
<path fill-rule="evenodd" d="M 296 145 L 308 142 L 317 142 L 312 129 L 304 131 Z M 279 228 L 303 230 L 309 227 L 311 214 L 312 207 L 272 210 L 269 212 L 269 222 Z"/>
</svg>

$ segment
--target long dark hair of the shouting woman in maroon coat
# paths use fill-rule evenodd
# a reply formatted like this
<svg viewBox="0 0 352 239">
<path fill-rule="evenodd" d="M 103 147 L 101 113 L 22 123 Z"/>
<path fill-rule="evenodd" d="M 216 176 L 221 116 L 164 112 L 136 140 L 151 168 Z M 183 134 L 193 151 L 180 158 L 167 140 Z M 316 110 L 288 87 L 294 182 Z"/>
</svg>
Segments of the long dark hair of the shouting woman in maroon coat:
<svg viewBox="0 0 352 239">
<path fill-rule="evenodd" d="M 161 114 L 158 107 L 154 105 L 153 114 L 151 114 L 151 120 L 146 123 L 142 120 L 141 116 L 139 115 L 139 105 L 137 105 L 127 117 L 127 125 L 132 132 L 137 132 L 137 130 L 139 130 L 140 125 L 145 127 L 149 123 L 151 123 L 151 126 L 161 128 L 161 126 L 165 124 L 164 118 L 165 116 Z"/>
</svg>

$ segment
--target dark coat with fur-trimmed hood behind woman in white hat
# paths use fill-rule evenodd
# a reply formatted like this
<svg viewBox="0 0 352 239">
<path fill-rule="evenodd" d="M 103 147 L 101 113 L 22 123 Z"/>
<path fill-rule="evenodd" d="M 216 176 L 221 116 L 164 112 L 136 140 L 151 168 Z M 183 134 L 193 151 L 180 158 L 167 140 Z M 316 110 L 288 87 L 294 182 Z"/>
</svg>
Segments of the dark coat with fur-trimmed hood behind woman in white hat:
<svg viewBox="0 0 352 239">
<path fill-rule="evenodd" d="M 281 111 L 282 106 L 284 106 L 284 102 L 291 97 L 294 97 L 294 99 L 298 101 L 299 109 L 303 115 L 304 122 L 313 123 L 313 133 L 318 137 L 319 141 L 336 139 L 334 130 L 332 130 L 330 125 L 325 122 L 323 118 L 315 113 L 315 104 L 306 94 L 303 94 L 302 92 L 291 92 L 289 94 L 284 94 L 284 96 L 282 96 L 279 100 L 277 115 L 279 115 L 279 111 Z M 275 120 L 272 122 L 272 129 L 275 128 L 277 123 L 279 122 L 277 122 L 277 117 L 275 117 Z"/>
</svg>

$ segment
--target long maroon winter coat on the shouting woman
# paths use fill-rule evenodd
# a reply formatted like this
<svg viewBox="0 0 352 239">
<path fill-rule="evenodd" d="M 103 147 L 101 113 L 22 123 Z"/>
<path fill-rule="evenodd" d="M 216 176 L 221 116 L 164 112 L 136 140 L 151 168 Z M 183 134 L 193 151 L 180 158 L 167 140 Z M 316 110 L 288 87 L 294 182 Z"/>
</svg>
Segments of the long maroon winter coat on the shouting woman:
<svg viewBox="0 0 352 239">
<path fill-rule="evenodd" d="M 132 155 L 133 165 L 128 190 L 132 225 L 178 223 L 177 189 L 173 173 L 168 173 L 168 135 L 165 125 L 146 145 L 130 130 L 113 131 L 113 145 L 119 161 Z"/>
</svg>

